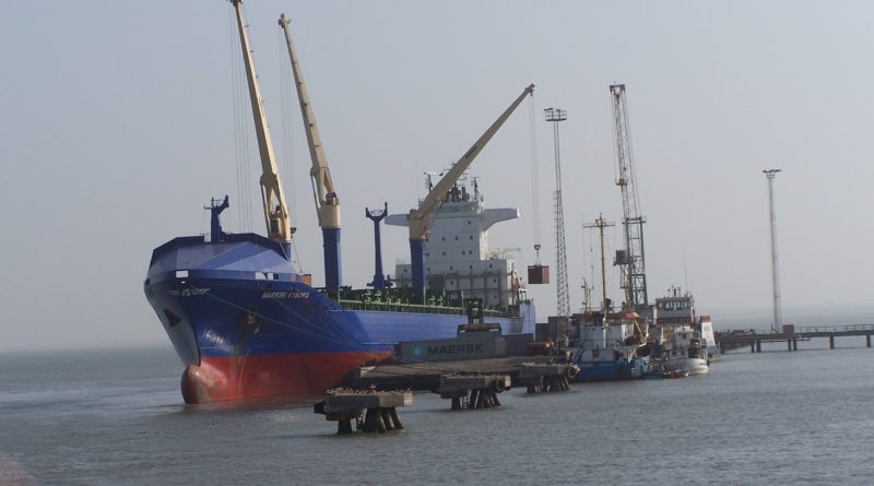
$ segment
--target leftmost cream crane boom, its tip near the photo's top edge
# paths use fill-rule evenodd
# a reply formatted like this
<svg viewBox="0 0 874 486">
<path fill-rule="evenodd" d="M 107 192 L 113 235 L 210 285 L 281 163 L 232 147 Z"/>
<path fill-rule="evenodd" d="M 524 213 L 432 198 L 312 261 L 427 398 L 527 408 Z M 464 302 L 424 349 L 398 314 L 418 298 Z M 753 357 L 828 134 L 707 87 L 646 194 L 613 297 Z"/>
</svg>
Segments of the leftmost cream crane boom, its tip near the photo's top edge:
<svg viewBox="0 0 874 486">
<path fill-rule="evenodd" d="M 261 201 L 264 206 L 264 223 L 270 239 L 281 242 L 291 242 L 295 228 L 292 227 L 288 204 L 280 183 L 276 158 L 273 155 L 273 142 L 267 126 L 264 104 L 261 100 L 261 88 L 255 74 L 255 63 L 249 47 L 249 37 L 246 34 L 246 23 L 243 19 L 243 0 L 231 0 L 237 14 L 239 40 L 243 47 L 243 59 L 246 62 L 246 79 L 249 81 L 249 98 L 255 117 L 255 133 L 258 138 L 258 152 L 261 157 Z"/>
</svg>

